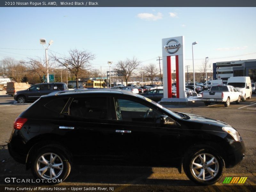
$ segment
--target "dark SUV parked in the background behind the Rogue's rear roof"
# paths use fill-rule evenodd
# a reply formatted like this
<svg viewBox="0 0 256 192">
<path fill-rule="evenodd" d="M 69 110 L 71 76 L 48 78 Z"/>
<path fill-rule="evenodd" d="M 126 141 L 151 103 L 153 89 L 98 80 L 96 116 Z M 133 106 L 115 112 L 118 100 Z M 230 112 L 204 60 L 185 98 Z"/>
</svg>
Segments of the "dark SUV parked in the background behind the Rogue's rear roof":
<svg viewBox="0 0 256 192">
<path fill-rule="evenodd" d="M 68 86 L 65 83 L 40 83 L 24 91 L 17 91 L 14 94 L 14 100 L 18 103 L 26 103 L 27 101 L 35 101 L 42 95 L 64 90 L 68 90 Z"/>
</svg>

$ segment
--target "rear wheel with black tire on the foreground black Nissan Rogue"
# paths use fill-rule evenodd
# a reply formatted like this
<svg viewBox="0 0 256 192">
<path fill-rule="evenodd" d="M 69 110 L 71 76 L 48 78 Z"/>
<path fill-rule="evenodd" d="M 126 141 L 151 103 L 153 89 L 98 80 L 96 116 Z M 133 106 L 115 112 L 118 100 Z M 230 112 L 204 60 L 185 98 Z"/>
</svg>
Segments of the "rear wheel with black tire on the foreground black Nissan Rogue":
<svg viewBox="0 0 256 192">
<path fill-rule="evenodd" d="M 53 157 L 57 155 L 53 162 L 50 162 L 51 154 L 53 154 L 52 155 Z M 43 163 L 43 159 L 41 158 L 42 156 L 44 156 L 46 159 L 45 163 Z M 59 165 L 58 168 L 54 167 L 54 163 L 55 163 L 55 166 L 57 164 Z M 39 171 L 40 169 L 44 169 L 44 168 L 47 169 L 45 173 L 43 173 L 44 171 Z M 54 174 L 56 177 L 53 176 L 51 178 L 51 169 L 54 170 Z M 63 182 L 68 177 L 70 170 L 71 170 L 71 162 L 70 162 L 70 156 L 68 155 L 68 153 L 62 149 L 59 149 L 53 146 L 45 146 L 44 148 L 39 149 L 38 152 L 35 154 L 34 158 L 32 158 L 31 171 L 36 179 L 40 179 L 40 180 L 44 179 L 44 181 L 42 182 L 45 182 L 46 180 L 55 180 L 55 179 L 57 180 L 57 182 L 54 182 L 54 183 L 52 182 L 47 184 L 56 184 L 60 182 L 60 180 L 61 182 Z M 41 175 L 39 174 L 39 172 L 41 173 Z"/>
</svg>

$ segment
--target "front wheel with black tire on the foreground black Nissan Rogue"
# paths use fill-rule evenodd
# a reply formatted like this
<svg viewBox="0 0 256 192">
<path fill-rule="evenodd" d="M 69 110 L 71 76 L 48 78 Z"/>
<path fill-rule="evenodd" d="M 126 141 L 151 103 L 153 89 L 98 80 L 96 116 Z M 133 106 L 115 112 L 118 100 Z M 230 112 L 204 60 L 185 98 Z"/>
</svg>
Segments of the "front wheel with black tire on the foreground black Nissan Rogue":
<svg viewBox="0 0 256 192">
<path fill-rule="evenodd" d="M 201 157 L 204 157 L 203 154 L 205 154 L 206 157 L 205 162 L 209 162 L 211 158 L 214 157 L 213 163 L 215 164 L 209 166 L 203 163 L 200 164 L 198 162 L 198 160 L 200 159 L 199 155 Z M 202 166 L 202 168 L 196 168 L 196 165 L 194 165 L 193 163 L 197 163 L 199 166 Z M 212 172 L 212 175 L 207 171 L 209 168 L 215 171 Z M 190 148 L 183 159 L 183 170 L 186 173 L 187 177 L 196 184 L 212 185 L 216 183 L 218 180 L 220 180 L 220 178 L 222 177 L 223 172 L 225 170 L 225 162 L 223 158 L 220 155 L 218 155 L 218 153 L 215 150 L 211 148 Z M 200 176 L 201 172 L 205 174 L 204 180 Z"/>
</svg>

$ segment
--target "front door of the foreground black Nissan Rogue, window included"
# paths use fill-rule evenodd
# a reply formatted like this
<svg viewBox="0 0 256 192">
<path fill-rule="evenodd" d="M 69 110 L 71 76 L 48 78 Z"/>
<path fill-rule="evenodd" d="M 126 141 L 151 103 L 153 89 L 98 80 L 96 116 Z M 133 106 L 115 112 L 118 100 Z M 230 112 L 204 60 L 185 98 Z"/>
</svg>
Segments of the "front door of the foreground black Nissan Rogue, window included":
<svg viewBox="0 0 256 192">
<path fill-rule="evenodd" d="M 170 165 L 179 146 L 177 125 L 161 124 L 165 114 L 146 100 L 118 96 L 111 101 L 115 107 L 113 128 L 118 133 L 116 148 L 122 152 L 123 162 Z"/>
</svg>

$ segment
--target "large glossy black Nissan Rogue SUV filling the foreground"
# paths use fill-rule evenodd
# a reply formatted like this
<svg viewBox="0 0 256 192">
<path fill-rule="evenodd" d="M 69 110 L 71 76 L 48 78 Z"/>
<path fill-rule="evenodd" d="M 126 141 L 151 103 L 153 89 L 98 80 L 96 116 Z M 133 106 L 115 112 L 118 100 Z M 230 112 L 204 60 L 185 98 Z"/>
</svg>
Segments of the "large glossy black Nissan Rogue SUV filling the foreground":
<svg viewBox="0 0 256 192">
<path fill-rule="evenodd" d="M 244 157 L 230 125 L 172 112 L 138 94 L 77 90 L 41 96 L 14 122 L 8 149 L 37 179 L 65 180 L 74 164 L 175 166 L 217 182 Z"/>
</svg>

